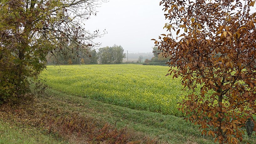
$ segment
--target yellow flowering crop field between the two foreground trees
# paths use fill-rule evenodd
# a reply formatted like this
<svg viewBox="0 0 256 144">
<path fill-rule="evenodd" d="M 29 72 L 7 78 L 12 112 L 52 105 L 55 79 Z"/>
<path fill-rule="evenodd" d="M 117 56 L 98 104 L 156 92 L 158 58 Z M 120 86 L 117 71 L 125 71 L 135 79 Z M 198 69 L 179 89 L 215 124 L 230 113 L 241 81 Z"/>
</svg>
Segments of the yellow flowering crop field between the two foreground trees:
<svg viewBox="0 0 256 144">
<path fill-rule="evenodd" d="M 181 115 L 187 91 L 169 67 L 136 64 L 47 66 L 41 74 L 51 88 L 132 109 Z"/>
</svg>

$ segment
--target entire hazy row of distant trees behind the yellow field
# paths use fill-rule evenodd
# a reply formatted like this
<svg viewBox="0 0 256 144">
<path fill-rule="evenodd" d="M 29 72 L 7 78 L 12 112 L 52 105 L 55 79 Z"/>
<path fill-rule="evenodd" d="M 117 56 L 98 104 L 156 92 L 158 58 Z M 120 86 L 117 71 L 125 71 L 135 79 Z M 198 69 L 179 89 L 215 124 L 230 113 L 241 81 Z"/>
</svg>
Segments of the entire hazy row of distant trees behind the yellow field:
<svg viewBox="0 0 256 144">
<path fill-rule="evenodd" d="M 165 63 L 169 61 L 169 57 L 165 58 L 161 55 L 161 52 L 157 47 L 153 47 L 153 57 L 151 59 L 143 60 L 143 56 L 140 55 L 136 61 L 130 61 L 129 63 Z M 81 59 L 80 59 L 81 57 Z M 121 64 L 126 57 L 124 49 L 121 45 L 113 45 L 112 47 L 106 46 L 96 50 L 87 50 L 86 53 L 70 52 L 69 55 L 59 54 L 55 56 L 49 56 L 47 58 L 47 64 Z"/>
</svg>

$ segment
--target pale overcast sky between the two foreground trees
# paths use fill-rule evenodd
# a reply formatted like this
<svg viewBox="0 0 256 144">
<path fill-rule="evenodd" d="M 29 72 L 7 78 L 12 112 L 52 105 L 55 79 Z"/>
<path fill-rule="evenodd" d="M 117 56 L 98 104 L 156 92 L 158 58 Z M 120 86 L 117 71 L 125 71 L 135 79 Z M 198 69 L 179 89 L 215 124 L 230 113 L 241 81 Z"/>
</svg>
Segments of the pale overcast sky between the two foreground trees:
<svg viewBox="0 0 256 144">
<path fill-rule="evenodd" d="M 94 41 L 105 46 L 121 45 L 126 51 L 152 52 L 154 41 L 162 33 L 166 22 L 160 0 L 109 0 L 97 8 L 97 16 L 85 22 L 86 29 L 107 34 Z"/>
</svg>

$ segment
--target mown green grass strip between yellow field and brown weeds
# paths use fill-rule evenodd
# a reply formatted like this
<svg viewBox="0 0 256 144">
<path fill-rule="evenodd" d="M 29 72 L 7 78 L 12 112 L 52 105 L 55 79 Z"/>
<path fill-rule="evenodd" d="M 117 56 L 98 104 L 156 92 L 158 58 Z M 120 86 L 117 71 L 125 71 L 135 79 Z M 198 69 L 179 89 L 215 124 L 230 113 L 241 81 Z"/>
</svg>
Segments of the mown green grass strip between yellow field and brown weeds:
<svg viewBox="0 0 256 144">
<path fill-rule="evenodd" d="M 158 139 L 160 143 L 214 144 L 211 137 L 202 136 L 197 126 L 180 117 L 133 110 L 53 89 L 47 91 L 50 96 L 40 98 L 40 101 L 46 102 L 45 108 L 49 107 L 54 111 L 62 109 L 67 114 L 79 112 L 81 116 L 91 117 L 101 123 L 108 122 L 118 129 L 126 127 L 141 139 L 148 136 Z"/>
</svg>

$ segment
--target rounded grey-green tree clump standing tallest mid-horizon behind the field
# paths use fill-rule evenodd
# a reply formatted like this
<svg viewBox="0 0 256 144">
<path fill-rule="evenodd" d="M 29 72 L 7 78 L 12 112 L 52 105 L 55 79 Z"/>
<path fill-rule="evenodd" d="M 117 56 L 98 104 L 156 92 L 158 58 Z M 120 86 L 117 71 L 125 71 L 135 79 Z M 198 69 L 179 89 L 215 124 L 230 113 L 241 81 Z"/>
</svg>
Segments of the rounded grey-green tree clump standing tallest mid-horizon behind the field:
<svg viewBox="0 0 256 144">
<path fill-rule="evenodd" d="M 101 64 L 121 64 L 125 58 L 124 49 L 121 45 L 113 45 L 112 47 L 106 46 L 100 48 L 97 56 Z"/>
</svg>

